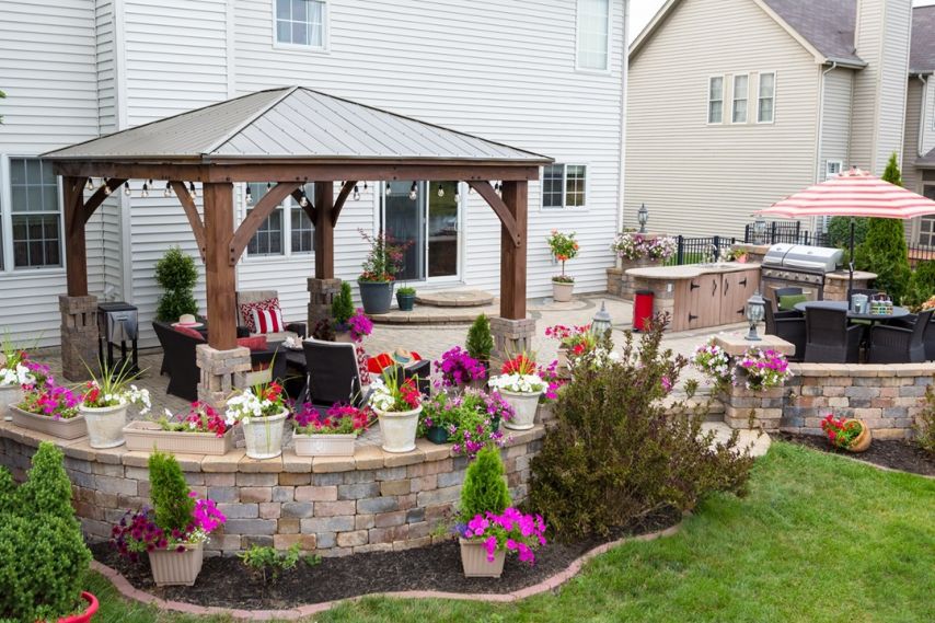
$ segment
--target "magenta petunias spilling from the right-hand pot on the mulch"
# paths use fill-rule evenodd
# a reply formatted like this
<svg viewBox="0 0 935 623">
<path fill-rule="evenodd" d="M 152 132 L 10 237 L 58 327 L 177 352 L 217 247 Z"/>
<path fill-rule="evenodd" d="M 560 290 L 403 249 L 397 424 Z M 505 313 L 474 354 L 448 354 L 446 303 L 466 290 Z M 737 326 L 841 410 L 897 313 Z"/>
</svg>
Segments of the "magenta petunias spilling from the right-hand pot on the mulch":
<svg viewBox="0 0 935 623">
<path fill-rule="evenodd" d="M 534 550 L 545 545 L 545 522 L 539 515 L 523 515 L 513 507 L 501 514 L 487 511 L 476 515 L 461 530 L 469 540 L 483 540 L 487 562 L 494 562 L 497 551 L 515 552 L 520 562 L 535 563 Z"/>
</svg>

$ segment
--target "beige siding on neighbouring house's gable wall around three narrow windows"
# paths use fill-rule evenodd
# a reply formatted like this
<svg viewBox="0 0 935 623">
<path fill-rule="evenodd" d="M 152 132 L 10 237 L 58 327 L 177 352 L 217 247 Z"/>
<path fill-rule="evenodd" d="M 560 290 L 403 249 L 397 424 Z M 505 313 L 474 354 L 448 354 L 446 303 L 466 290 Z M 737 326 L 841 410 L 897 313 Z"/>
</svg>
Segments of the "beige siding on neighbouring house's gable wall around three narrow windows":
<svg viewBox="0 0 935 623">
<path fill-rule="evenodd" d="M 776 72 L 775 123 L 755 120 L 758 71 Z M 707 124 L 708 78 L 750 73 L 750 123 Z M 640 204 L 654 231 L 742 235 L 751 215 L 813 183 L 815 58 L 753 2 L 685 0 L 631 58 L 624 222 Z"/>
</svg>

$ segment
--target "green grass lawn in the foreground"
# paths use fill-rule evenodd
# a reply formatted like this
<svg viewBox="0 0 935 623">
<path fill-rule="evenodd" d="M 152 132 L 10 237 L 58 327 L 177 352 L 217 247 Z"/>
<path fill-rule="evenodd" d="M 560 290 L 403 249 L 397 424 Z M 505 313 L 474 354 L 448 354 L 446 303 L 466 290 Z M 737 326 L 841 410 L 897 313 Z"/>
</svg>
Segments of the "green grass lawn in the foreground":
<svg viewBox="0 0 935 623">
<path fill-rule="evenodd" d="M 750 495 L 715 496 L 677 537 L 598 557 L 513 605 L 366 598 L 323 622 L 931 622 L 935 481 L 776 442 Z M 226 621 L 127 605 L 103 578 L 101 622 Z"/>
</svg>

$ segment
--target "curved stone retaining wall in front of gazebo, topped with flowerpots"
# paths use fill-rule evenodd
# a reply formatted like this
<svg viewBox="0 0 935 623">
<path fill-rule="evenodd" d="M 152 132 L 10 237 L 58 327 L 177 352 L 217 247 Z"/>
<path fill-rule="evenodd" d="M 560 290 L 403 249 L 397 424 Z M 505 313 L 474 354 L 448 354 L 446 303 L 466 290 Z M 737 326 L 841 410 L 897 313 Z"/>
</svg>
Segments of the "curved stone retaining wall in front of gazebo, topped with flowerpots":
<svg viewBox="0 0 935 623">
<path fill-rule="evenodd" d="M 545 435 L 508 431 L 503 450 L 510 494 L 527 496 L 530 461 Z M 55 441 L 66 455 L 74 505 L 91 540 L 106 540 L 127 509 L 150 504 L 148 452 L 92 449 L 86 439 L 62 441 L 0 422 L 0 464 L 22 481 L 39 441 Z M 206 546 L 233 554 L 251 544 L 287 549 L 299 543 L 324 556 L 405 550 L 432 541 L 432 531 L 460 498 L 468 459 L 451 446 L 417 441 L 413 452 L 392 454 L 359 446 L 353 458 L 296 455 L 266 461 L 243 450 L 223 457 L 176 455 L 193 491 L 218 503 L 227 524 Z"/>
</svg>

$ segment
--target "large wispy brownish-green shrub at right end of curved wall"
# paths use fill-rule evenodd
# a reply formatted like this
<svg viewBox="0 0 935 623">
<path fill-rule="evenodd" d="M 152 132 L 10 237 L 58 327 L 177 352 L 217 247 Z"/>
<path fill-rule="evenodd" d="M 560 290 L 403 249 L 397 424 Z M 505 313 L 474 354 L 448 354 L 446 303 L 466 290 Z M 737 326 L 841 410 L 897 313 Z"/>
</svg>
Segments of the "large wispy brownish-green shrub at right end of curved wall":
<svg viewBox="0 0 935 623">
<path fill-rule="evenodd" d="M 576 362 L 530 483 L 532 509 L 558 539 L 607 535 L 654 509 L 688 510 L 708 493 L 743 489 L 752 459 L 734 452 L 736 434 L 712 447 L 706 409 L 662 404 L 686 365 L 661 348 L 663 326 L 657 318 L 638 344 L 627 332 L 619 362 L 600 354 Z"/>
</svg>

